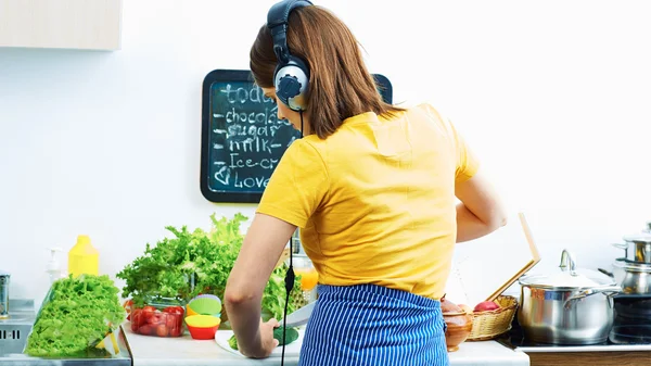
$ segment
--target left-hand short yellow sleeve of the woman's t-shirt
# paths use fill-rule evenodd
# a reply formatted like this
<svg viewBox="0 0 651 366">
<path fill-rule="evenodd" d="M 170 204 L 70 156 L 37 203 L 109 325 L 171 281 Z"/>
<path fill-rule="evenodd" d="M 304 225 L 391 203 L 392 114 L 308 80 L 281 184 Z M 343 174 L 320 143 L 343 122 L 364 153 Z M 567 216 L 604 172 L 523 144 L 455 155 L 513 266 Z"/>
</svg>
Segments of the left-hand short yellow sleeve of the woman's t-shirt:
<svg viewBox="0 0 651 366">
<path fill-rule="evenodd" d="M 271 174 L 256 212 L 304 228 L 329 185 L 321 154 L 309 142 L 295 140 Z"/>
</svg>

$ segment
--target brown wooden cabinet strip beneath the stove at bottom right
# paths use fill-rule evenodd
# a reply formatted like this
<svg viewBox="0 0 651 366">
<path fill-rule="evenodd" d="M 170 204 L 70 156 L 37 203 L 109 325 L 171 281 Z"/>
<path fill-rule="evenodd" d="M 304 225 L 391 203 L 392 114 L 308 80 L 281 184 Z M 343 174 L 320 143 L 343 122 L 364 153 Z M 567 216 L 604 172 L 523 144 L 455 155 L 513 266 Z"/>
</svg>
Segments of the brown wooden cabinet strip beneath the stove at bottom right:
<svg viewBox="0 0 651 366">
<path fill-rule="evenodd" d="M 531 352 L 531 366 L 640 366 L 651 364 L 649 351 Z"/>
</svg>

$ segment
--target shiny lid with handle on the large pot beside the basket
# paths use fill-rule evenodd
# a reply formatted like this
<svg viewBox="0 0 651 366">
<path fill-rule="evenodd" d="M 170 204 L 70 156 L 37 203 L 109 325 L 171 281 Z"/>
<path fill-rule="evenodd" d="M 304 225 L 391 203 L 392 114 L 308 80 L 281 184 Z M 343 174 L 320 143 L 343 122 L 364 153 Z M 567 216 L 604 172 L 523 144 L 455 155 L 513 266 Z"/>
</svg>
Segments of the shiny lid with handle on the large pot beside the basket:
<svg viewBox="0 0 651 366">
<path fill-rule="evenodd" d="M 576 264 L 566 250 L 561 255 L 560 270 L 549 275 L 523 276 L 521 285 L 554 289 L 589 289 L 616 285 L 615 280 L 598 270 L 576 268 Z"/>
</svg>

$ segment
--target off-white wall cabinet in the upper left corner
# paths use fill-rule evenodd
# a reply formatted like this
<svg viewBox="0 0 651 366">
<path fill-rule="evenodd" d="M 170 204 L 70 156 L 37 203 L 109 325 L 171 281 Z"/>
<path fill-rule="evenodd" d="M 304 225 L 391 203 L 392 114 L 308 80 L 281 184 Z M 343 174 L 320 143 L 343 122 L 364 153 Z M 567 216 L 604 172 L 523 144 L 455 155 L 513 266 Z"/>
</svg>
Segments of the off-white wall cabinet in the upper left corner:
<svg viewBox="0 0 651 366">
<path fill-rule="evenodd" d="M 118 50 L 123 0 L 0 0 L 0 47 Z"/>
</svg>

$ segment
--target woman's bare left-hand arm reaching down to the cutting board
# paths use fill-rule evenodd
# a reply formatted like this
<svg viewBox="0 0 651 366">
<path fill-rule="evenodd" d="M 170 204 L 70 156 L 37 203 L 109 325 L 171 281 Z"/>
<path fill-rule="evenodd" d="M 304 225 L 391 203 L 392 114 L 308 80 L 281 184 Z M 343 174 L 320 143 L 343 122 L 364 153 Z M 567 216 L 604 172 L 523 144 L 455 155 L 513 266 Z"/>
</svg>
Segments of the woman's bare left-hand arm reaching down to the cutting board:
<svg viewBox="0 0 651 366">
<path fill-rule="evenodd" d="M 246 356 L 267 357 L 278 345 L 272 335 L 278 321 L 260 321 L 263 291 L 295 230 L 292 224 L 256 214 L 228 278 L 225 306 L 238 348 Z"/>
</svg>

